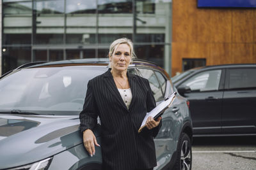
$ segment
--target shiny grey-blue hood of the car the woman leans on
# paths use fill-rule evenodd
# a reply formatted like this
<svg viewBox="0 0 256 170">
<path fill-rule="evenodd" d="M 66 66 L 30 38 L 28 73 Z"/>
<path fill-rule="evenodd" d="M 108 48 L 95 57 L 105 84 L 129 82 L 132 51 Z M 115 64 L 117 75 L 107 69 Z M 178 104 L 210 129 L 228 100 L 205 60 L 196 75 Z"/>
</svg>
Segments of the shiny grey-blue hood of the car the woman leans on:
<svg viewBox="0 0 256 170">
<path fill-rule="evenodd" d="M 78 116 L 0 114 L 0 169 L 30 164 L 83 143 L 79 124 Z"/>
</svg>

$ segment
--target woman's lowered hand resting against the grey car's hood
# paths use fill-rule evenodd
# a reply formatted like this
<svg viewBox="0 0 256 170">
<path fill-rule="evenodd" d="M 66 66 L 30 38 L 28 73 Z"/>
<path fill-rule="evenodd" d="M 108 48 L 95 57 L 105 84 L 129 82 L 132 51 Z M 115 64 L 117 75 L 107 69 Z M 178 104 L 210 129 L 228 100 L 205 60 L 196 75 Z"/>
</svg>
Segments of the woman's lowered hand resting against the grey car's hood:
<svg viewBox="0 0 256 170">
<path fill-rule="evenodd" d="M 95 154 L 95 145 L 96 146 L 100 146 L 100 145 L 97 143 L 97 139 L 95 138 L 91 129 L 86 129 L 83 132 L 83 141 L 84 141 L 84 147 L 92 157 Z"/>
</svg>

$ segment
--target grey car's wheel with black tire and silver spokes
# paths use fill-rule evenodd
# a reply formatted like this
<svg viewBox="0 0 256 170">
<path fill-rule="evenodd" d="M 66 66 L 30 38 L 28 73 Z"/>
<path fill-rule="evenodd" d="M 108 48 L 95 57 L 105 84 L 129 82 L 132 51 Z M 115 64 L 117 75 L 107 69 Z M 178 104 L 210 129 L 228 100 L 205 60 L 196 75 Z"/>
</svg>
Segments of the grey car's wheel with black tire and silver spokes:
<svg viewBox="0 0 256 170">
<path fill-rule="evenodd" d="M 192 150 L 191 140 L 188 134 L 182 133 L 179 138 L 177 147 L 177 159 L 175 162 L 175 170 L 191 170 L 192 167 Z"/>
</svg>

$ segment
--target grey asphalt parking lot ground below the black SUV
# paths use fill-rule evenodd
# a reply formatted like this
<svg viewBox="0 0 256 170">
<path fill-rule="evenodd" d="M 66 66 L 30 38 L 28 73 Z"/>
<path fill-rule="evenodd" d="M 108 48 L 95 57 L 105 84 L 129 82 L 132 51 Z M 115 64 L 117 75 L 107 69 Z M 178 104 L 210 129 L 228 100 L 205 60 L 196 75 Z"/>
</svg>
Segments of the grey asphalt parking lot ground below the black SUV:
<svg viewBox="0 0 256 170">
<path fill-rule="evenodd" d="M 256 136 L 193 139 L 193 170 L 256 169 Z"/>
</svg>

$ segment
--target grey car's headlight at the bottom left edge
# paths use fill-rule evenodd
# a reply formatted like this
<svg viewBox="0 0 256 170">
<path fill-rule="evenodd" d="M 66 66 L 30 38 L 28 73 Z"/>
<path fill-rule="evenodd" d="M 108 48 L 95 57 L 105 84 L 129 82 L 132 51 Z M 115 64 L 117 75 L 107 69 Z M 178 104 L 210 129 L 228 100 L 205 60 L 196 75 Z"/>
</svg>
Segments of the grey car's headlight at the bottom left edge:
<svg viewBox="0 0 256 170">
<path fill-rule="evenodd" d="M 52 158 L 47 158 L 44 160 L 40 160 L 39 162 L 35 162 L 33 164 L 29 164 L 26 166 L 20 166 L 20 167 L 14 167 L 8 170 L 44 170 L 46 169 L 50 162 L 51 162 Z"/>
</svg>

